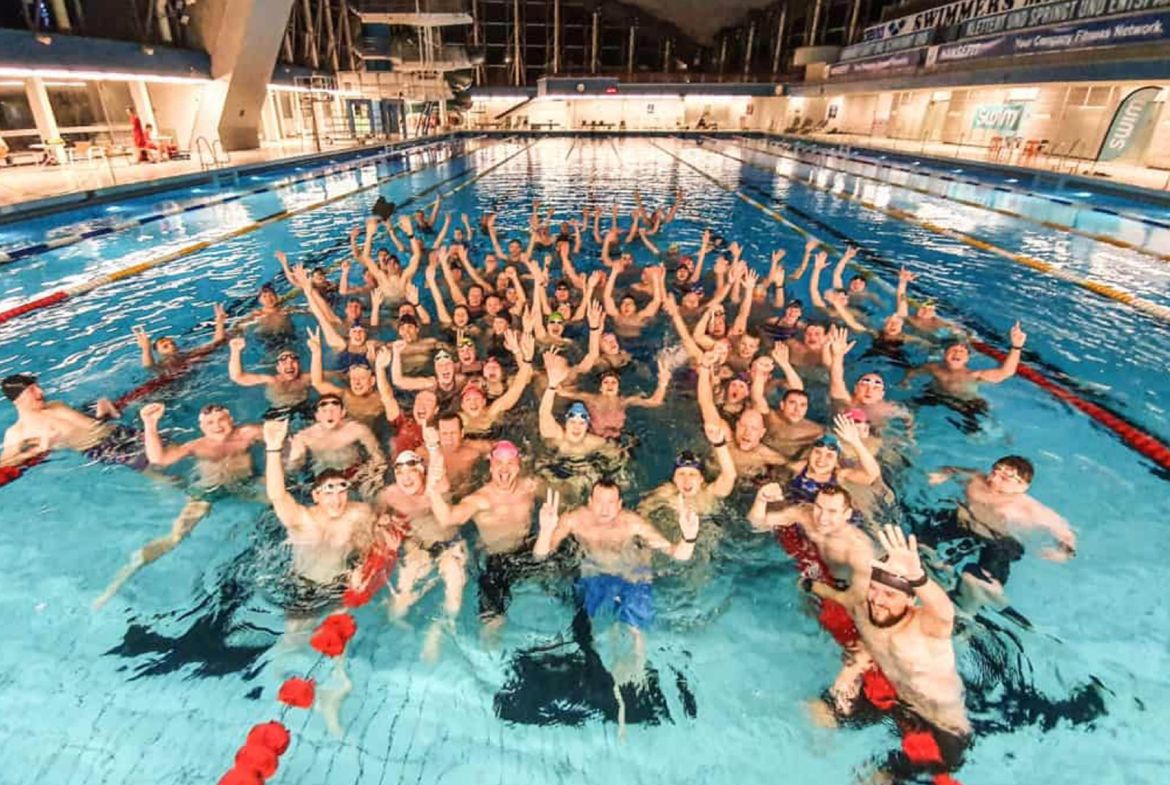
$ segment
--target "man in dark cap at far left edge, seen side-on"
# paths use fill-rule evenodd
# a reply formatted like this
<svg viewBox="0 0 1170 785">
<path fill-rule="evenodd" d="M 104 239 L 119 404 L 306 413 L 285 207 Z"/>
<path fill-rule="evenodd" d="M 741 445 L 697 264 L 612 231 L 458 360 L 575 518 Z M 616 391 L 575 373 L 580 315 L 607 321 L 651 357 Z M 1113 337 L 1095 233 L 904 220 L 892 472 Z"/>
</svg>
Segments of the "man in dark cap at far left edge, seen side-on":
<svg viewBox="0 0 1170 785">
<path fill-rule="evenodd" d="M 138 470 L 147 467 L 142 434 L 109 422 L 122 415 L 108 399 L 98 399 L 95 419 L 61 401 L 44 400 L 36 377 L 27 373 L 6 377 L 2 388 L 16 407 L 16 421 L 5 432 L 0 466 L 19 466 L 64 447 L 99 463 Z"/>
</svg>

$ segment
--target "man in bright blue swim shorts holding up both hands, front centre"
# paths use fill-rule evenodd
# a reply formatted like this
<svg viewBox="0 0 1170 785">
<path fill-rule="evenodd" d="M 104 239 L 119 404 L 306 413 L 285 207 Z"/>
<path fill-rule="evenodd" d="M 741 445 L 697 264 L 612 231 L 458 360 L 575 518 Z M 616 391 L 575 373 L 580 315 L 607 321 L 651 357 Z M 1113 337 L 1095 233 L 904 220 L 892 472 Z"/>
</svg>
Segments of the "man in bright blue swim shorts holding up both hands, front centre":
<svg viewBox="0 0 1170 785">
<path fill-rule="evenodd" d="M 617 682 L 641 682 L 646 669 L 645 629 L 654 621 L 654 594 L 651 557 L 654 551 L 679 562 L 689 562 L 698 540 L 698 516 L 680 495 L 679 529 L 682 538 L 672 543 L 632 510 L 622 509 L 621 493 L 612 480 L 598 480 L 589 503 L 560 514 L 560 495 L 548 491 L 539 514 L 539 535 L 532 556 L 548 558 L 567 537 L 584 551 L 578 594 L 590 619 L 614 617 L 634 640 L 634 657 L 628 679 L 614 673 Z M 617 672 L 618 668 L 614 668 Z"/>
</svg>

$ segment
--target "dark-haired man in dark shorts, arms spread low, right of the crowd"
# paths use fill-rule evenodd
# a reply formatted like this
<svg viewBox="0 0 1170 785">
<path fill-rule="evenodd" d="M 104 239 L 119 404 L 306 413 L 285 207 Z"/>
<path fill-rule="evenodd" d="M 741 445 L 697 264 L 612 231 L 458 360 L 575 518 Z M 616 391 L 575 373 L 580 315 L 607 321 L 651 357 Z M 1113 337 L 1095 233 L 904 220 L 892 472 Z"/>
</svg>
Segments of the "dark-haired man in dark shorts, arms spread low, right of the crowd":
<svg viewBox="0 0 1170 785">
<path fill-rule="evenodd" d="M 1042 558 L 1066 562 L 1076 556 L 1076 535 L 1068 521 L 1028 495 L 1034 476 L 1032 462 L 1019 455 L 999 459 L 987 474 L 961 467 L 930 473 L 931 486 L 952 478 L 966 483 L 958 523 L 982 540 L 978 560 L 962 571 L 964 605 L 1003 604 L 1012 562 L 1024 556 L 1024 545 L 1017 537 L 1046 532 L 1057 544 L 1041 549 Z"/>
</svg>

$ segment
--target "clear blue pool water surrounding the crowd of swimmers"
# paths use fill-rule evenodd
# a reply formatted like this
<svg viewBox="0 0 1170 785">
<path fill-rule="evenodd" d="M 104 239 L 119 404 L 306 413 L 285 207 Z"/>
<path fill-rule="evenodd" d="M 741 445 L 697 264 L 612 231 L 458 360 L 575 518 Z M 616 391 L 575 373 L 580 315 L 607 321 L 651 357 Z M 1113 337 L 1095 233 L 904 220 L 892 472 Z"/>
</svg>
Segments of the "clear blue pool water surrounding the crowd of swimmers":
<svg viewBox="0 0 1170 785">
<path fill-rule="evenodd" d="M 742 191 L 794 208 L 785 218 L 828 242 L 858 242 L 859 261 L 887 281 L 901 264 L 918 273 L 916 294 L 937 297 L 943 316 L 992 345 L 1005 346 L 1009 326 L 1020 318 L 1028 333 L 1026 361 L 1067 378 L 1163 440 L 1170 435 L 1165 325 L 715 150 L 776 165 L 775 158 L 723 143 L 546 138 L 467 140 L 339 177 L 352 186 L 404 165 L 419 168 L 378 190 L 397 202 L 414 194 L 425 202 L 466 185 L 447 208 L 467 212 L 473 222 L 498 209 L 502 236 L 522 230 L 534 199 L 556 207 L 558 218 L 579 215 L 587 201 L 614 201 L 628 214 L 635 187 L 649 206 L 669 204 L 681 187 L 687 197 L 679 219 L 659 240 L 679 242 L 686 253 L 713 227 L 738 240 L 756 269 L 766 269 L 768 254 L 784 248 L 792 270 L 804 237 L 741 200 Z M 319 200 L 328 195 L 324 187 L 316 180 L 174 216 L 168 230 L 190 240 L 245 226 Z M 930 211 L 936 222 L 977 223 L 996 245 L 1166 297 L 1152 262 L 1116 248 L 973 215 L 896 186 L 861 187 L 881 190 L 882 199 L 916 213 Z M 273 250 L 314 263 L 339 261 L 349 228 L 364 218 L 373 194 L 268 223 L 0 325 L 0 374 L 40 373 L 50 398 L 74 405 L 117 397 L 149 378 L 138 367 L 132 325 L 174 335 L 185 345 L 206 339 L 213 303 L 227 301 L 242 312 L 256 287 L 275 277 Z M 0 299 L 21 302 L 62 280 L 109 273 L 160 253 L 166 242 L 124 232 L 37 255 L 6 268 Z M 586 242 L 583 257 L 596 255 Z M 790 283 L 789 296 L 807 299 L 806 281 Z M 883 298 L 879 311 L 887 312 L 888 291 L 874 290 Z M 658 325 L 633 343 L 641 367 L 624 380 L 627 387 L 653 387 L 652 354 L 670 340 Z M 849 378 L 881 370 L 889 395 L 914 407 L 917 419 L 915 445 L 885 467 L 900 502 L 893 519 L 921 528 L 952 505 L 954 487 L 925 484 L 930 469 L 986 468 L 1018 453 L 1037 466 L 1032 493 L 1068 517 L 1079 537 L 1078 558 L 1067 564 L 1030 555 L 1014 565 L 1011 613 L 985 610 L 959 620 L 956 650 L 977 738 L 957 778 L 1005 783 L 1032 772 L 1040 781 L 1071 785 L 1164 783 L 1170 755 L 1157 739 L 1170 722 L 1170 610 L 1156 588 L 1170 581 L 1164 473 L 1019 378 L 983 390 L 989 412 L 975 427 L 949 408 L 918 405 L 920 384 L 897 385 L 902 369 L 856 359 L 866 340 L 851 356 Z M 249 340 L 245 366 L 269 361 L 262 342 Z M 811 415 L 823 418 L 824 384 L 808 386 Z M 256 421 L 266 407 L 259 388 L 228 381 L 226 350 L 156 398 L 167 404 L 163 425 L 171 440 L 192 438 L 195 414 L 209 401 L 228 402 L 236 421 Z M 534 408 L 529 393 L 509 434 L 526 454 L 539 455 Z M 137 405 L 126 416 L 137 421 Z M 12 408 L 0 406 L 0 427 L 12 419 Z M 631 414 L 636 443 L 622 473 L 627 504 L 669 478 L 677 449 L 706 449 L 697 419 L 684 391 L 661 409 Z M 85 466 L 68 454 L 0 488 L 0 624 L 7 631 L 0 781 L 218 781 L 246 730 L 282 715 L 275 701 L 281 682 L 314 667 L 315 653 L 276 646 L 288 555 L 278 524 L 256 503 L 216 502 L 173 553 L 135 576 L 101 612 L 91 610 L 128 555 L 166 531 L 184 498 L 170 484 Z M 408 626 L 391 624 L 380 601 L 356 613 L 345 734 L 330 734 L 319 714 L 284 712 L 294 742 L 273 781 L 738 785 L 777 781 L 780 771 L 784 781 L 852 781 L 896 748 L 895 731 L 889 724 L 830 731 L 808 721 L 806 702 L 837 674 L 837 645 L 806 613 L 787 557 L 771 537 L 750 533 L 743 500 L 735 507 L 720 517 L 717 537 L 715 524 L 704 524 L 704 536 L 716 540 L 708 560 L 660 578 L 660 618 L 648 634 L 651 686 L 627 696 L 625 735 L 604 667 L 608 641 L 604 634 L 593 639 L 574 618 L 570 586 L 518 585 L 500 645 L 484 648 L 473 574 L 456 629 L 445 636 L 434 665 L 419 654 L 429 618 L 441 611 L 439 592 L 412 611 Z M 314 675 L 321 687 L 333 681 L 326 666 Z"/>
</svg>

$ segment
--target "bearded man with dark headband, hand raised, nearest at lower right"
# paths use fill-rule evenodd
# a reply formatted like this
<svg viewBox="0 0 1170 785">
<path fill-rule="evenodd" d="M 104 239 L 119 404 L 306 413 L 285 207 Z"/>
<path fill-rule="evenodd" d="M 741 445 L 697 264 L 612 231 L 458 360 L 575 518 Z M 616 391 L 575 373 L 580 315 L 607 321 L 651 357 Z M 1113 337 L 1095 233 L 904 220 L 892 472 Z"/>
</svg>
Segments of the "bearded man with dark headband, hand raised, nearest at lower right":
<svg viewBox="0 0 1170 785">
<path fill-rule="evenodd" d="M 901 529 L 885 526 L 879 540 L 885 560 L 854 572 L 848 590 L 806 581 L 814 594 L 848 611 L 861 634 L 859 657 L 873 659 L 848 689 L 838 680 L 820 718 L 863 716 L 866 704 L 889 711 L 903 750 L 914 752 L 908 759 L 897 756 L 890 774 L 909 779 L 923 769 L 955 771 L 971 743 L 952 641 L 955 606 L 922 569 L 913 535 L 907 539 Z"/>
</svg>

